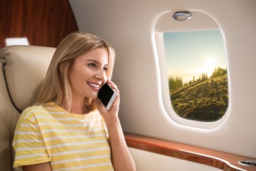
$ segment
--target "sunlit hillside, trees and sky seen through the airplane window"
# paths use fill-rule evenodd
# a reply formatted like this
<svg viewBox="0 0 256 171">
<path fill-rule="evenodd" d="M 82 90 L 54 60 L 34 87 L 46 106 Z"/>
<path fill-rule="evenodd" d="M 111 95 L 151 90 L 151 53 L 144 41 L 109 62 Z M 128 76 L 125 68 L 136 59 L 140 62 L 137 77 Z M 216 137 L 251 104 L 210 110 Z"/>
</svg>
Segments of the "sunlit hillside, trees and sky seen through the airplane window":
<svg viewBox="0 0 256 171">
<path fill-rule="evenodd" d="M 169 96 L 182 118 L 220 120 L 228 109 L 226 49 L 220 30 L 164 32 Z"/>
</svg>

